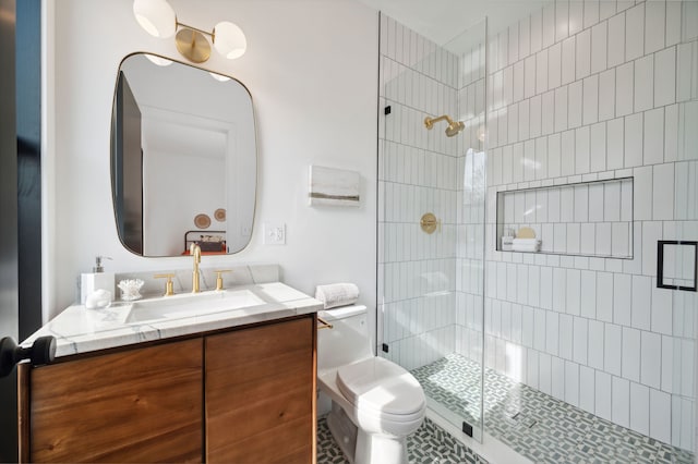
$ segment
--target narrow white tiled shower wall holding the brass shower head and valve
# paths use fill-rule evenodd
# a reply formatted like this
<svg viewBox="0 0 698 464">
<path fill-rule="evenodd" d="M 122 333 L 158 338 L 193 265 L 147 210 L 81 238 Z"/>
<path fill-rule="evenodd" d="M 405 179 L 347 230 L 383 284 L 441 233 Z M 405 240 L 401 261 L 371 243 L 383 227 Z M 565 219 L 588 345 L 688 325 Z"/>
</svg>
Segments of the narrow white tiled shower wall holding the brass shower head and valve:
<svg viewBox="0 0 698 464">
<path fill-rule="evenodd" d="M 412 369 L 454 351 L 458 137 L 423 121 L 456 115 L 459 68 L 381 15 L 380 70 L 378 341 Z M 420 229 L 425 212 L 441 221 L 433 234 Z"/>
</svg>

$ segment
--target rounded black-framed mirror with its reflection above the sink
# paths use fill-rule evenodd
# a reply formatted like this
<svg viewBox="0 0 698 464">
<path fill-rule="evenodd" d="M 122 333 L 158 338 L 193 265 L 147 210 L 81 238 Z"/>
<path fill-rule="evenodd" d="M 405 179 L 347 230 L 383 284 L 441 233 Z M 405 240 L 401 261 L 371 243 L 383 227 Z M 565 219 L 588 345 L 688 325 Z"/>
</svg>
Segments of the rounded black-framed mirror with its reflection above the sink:
<svg viewBox="0 0 698 464">
<path fill-rule="evenodd" d="M 145 53 L 119 69 L 111 186 L 119 239 L 142 256 L 237 253 L 252 235 L 256 141 L 239 81 Z M 157 64 L 156 64 L 157 62 Z"/>
</svg>

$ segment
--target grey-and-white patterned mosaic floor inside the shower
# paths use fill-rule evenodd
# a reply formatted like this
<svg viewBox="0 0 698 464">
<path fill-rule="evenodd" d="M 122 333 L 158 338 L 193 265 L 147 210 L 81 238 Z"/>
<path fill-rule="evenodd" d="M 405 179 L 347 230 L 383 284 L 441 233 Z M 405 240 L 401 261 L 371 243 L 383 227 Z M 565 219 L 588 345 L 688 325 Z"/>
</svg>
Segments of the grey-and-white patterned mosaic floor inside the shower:
<svg viewBox="0 0 698 464">
<path fill-rule="evenodd" d="M 426 394 L 479 426 L 480 365 L 457 354 L 412 371 Z M 693 463 L 694 454 L 485 369 L 485 431 L 537 463 Z"/>
</svg>

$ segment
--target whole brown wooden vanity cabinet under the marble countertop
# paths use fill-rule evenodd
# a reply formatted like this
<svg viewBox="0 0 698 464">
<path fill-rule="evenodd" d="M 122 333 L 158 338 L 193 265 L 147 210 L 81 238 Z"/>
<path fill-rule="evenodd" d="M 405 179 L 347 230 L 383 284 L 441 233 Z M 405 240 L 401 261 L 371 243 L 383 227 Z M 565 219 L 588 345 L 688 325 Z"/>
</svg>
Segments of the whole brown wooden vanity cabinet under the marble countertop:
<svg viewBox="0 0 698 464">
<path fill-rule="evenodd" d="M 308 315 L 32 368 L 22 462 L 315 462 Z"/>
</svg>

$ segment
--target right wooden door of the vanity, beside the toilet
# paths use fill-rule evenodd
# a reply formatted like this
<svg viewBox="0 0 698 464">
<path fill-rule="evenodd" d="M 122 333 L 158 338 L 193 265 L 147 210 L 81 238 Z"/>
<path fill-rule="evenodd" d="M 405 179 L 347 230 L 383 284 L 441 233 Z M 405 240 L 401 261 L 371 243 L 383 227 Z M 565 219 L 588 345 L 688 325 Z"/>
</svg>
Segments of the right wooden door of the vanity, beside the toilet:
<svg viewBox="0 0 698 464">
<path fill-rule="evenodd" d="M 206 338 L 206 461 L 310 463 L 314 319 Z"/>
</svg>

